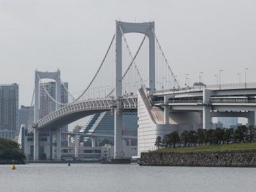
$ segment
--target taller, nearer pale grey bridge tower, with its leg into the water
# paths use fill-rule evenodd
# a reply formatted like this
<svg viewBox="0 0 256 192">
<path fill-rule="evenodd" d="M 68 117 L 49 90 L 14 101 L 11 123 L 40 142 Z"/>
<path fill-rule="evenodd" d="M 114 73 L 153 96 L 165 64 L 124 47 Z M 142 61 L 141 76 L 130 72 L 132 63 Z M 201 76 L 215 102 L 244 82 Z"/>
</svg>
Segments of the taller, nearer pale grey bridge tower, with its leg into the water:
<svg viewBox="0 0 256 192">
<path fill-rule="evenodd" d="M 116 62 L 115 62 L 115 159 L 122 159 L 122 109 L 118 100 L 122 97 L 122 36 L 124 33 L 142 33 L 149 40 L 149 67 L 147 88 L 155 90 L 155 37 L 154 22 L 132 23 L 116 20 Z"/>
</svg>

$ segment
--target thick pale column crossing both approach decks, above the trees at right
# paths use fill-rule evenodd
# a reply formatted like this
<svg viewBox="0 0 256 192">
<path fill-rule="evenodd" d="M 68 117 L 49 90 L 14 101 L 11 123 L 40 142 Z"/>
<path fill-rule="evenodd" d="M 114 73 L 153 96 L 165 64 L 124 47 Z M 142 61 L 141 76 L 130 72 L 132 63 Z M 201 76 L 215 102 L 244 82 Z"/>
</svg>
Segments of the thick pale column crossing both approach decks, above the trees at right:
<svg viewBox="0 0 256 192">
<path fill-rule="evenodd" d="M 211 90 L 203 90 L 203 129 L 211 128 L 211 106 L 210 106 Z"/>
</svg>

